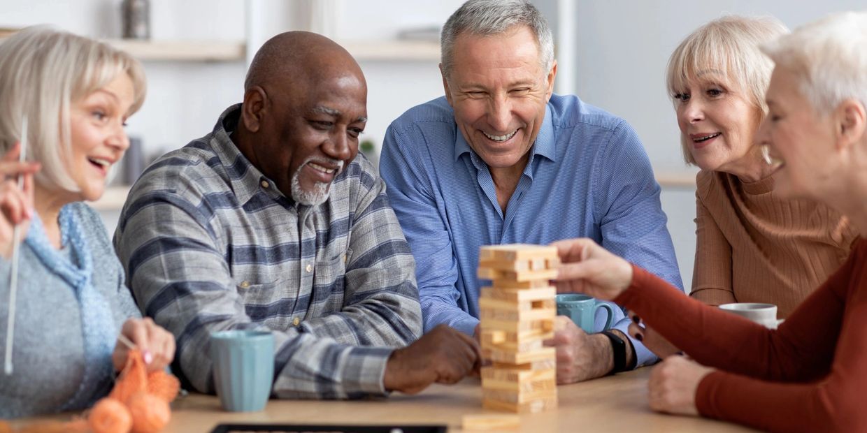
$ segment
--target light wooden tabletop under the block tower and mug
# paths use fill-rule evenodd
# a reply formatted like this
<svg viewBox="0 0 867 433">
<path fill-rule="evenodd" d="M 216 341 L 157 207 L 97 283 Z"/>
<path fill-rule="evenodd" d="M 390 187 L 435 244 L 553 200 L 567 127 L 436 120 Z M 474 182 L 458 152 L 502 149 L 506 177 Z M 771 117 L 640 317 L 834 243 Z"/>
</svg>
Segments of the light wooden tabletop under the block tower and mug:
<svg viewBox="0 0 867 433">
<path fill-rule="evenodd" d="M 651 411 L 647 402 L 650 368 L 557 388 L 559 408 L 521 417 L 514 431 L 714 432 L 751 431 L 732 423 L 697 417 L 675 417 Z M 271 400 L 264 411 L 232 413 L 217 397 L 191 394 L 173 403 L 166 432 L 206 433 L 218 423 L 298 424 L 447 424 L 460 431 L 466 414 L 500 413 L 483 410 L 479 379 L 458 385 L 433 385 L 418 395 L 355 401 Z"/>
</svg>

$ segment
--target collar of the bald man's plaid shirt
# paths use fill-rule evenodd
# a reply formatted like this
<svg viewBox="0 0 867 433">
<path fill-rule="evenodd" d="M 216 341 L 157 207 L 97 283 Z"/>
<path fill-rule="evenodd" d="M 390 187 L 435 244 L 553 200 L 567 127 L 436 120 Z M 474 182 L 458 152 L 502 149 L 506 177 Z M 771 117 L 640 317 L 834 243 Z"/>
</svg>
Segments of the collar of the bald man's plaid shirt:
<svg viewBox="0 0 867 433">
<path fill-rule="evenodd" d="M 231 191 L 238 197 L 238 203 L 246 204 L 257 192 L 264 189 L 263 182 L 267 182 L 269 187 L 267 191 L 271 197 L 282 197 L 283 194 L 277 189 L 270 178 L 267 178 L 262 171 L 252 165 L 238 146 L 231 140 L 231 132 L 238 126 L 238 120 L 241 116 L 241 104 L 235 104 L 225 109 L 220 114 L 217 125 L 214 126 L 211 139 L 211 147 L 220 160 L 220 164 L 225 168 L 225 172 L 229 177 Z"/>
</svg>

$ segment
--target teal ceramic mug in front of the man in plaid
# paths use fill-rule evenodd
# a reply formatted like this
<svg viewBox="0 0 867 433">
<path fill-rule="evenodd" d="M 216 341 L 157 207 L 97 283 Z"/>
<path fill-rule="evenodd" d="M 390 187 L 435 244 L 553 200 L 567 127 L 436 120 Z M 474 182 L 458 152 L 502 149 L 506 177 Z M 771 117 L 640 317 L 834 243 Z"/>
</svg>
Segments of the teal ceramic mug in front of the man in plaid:
<svg viewBox="0 0 867 433">
<path fill-rule="evenodd" d="M 223 409 L 264 410 L 274 380 L 274 335 L 269 331 L 211 334 L 214 386 Z"/>
</svg>

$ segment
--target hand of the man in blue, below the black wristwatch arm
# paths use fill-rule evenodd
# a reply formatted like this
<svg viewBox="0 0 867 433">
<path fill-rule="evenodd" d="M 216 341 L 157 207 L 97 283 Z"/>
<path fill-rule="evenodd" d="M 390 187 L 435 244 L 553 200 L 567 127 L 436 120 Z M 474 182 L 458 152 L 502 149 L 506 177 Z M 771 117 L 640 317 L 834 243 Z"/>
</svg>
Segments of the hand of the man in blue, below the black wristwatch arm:
<svg viewBox="0 0 867 433">
<path fill-rule="evenodd" d="M 555 318 L 554 338 L 544 344 L 557 348 L 557 384 L 599 378 L 614 368 L 608 337 L 589 335 L 566 316 Z"/>
</svg>

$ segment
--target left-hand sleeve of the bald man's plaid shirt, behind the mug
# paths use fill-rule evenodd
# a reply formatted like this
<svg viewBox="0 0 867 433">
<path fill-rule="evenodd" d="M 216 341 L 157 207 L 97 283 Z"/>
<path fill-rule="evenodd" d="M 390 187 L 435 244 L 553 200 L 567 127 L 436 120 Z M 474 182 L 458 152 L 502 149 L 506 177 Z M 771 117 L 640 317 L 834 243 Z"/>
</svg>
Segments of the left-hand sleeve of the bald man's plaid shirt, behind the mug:
<svg viewBox="0 0 867 433">
<path fill-rule="evenodd" d="M 153 178 L 165 176 L 153 173 Z M 175 335 L 182 376 L 196 391 L 213 392 L 210 333 L 265 325 L 251 320 L 233 285 L 218 223 L 189 197 L 190 185 L 184 197 L 178 192 L 184 186 L 175 186 L 160 190 L 140 181 L 121 216 L 115 249 L 139 307 Z M 349 346 L 303 327 L 273 332 L 277 377 L 272 392 L 277 397 L 385 393 L 382 376 L 390 349 Z"/>
</svg>

